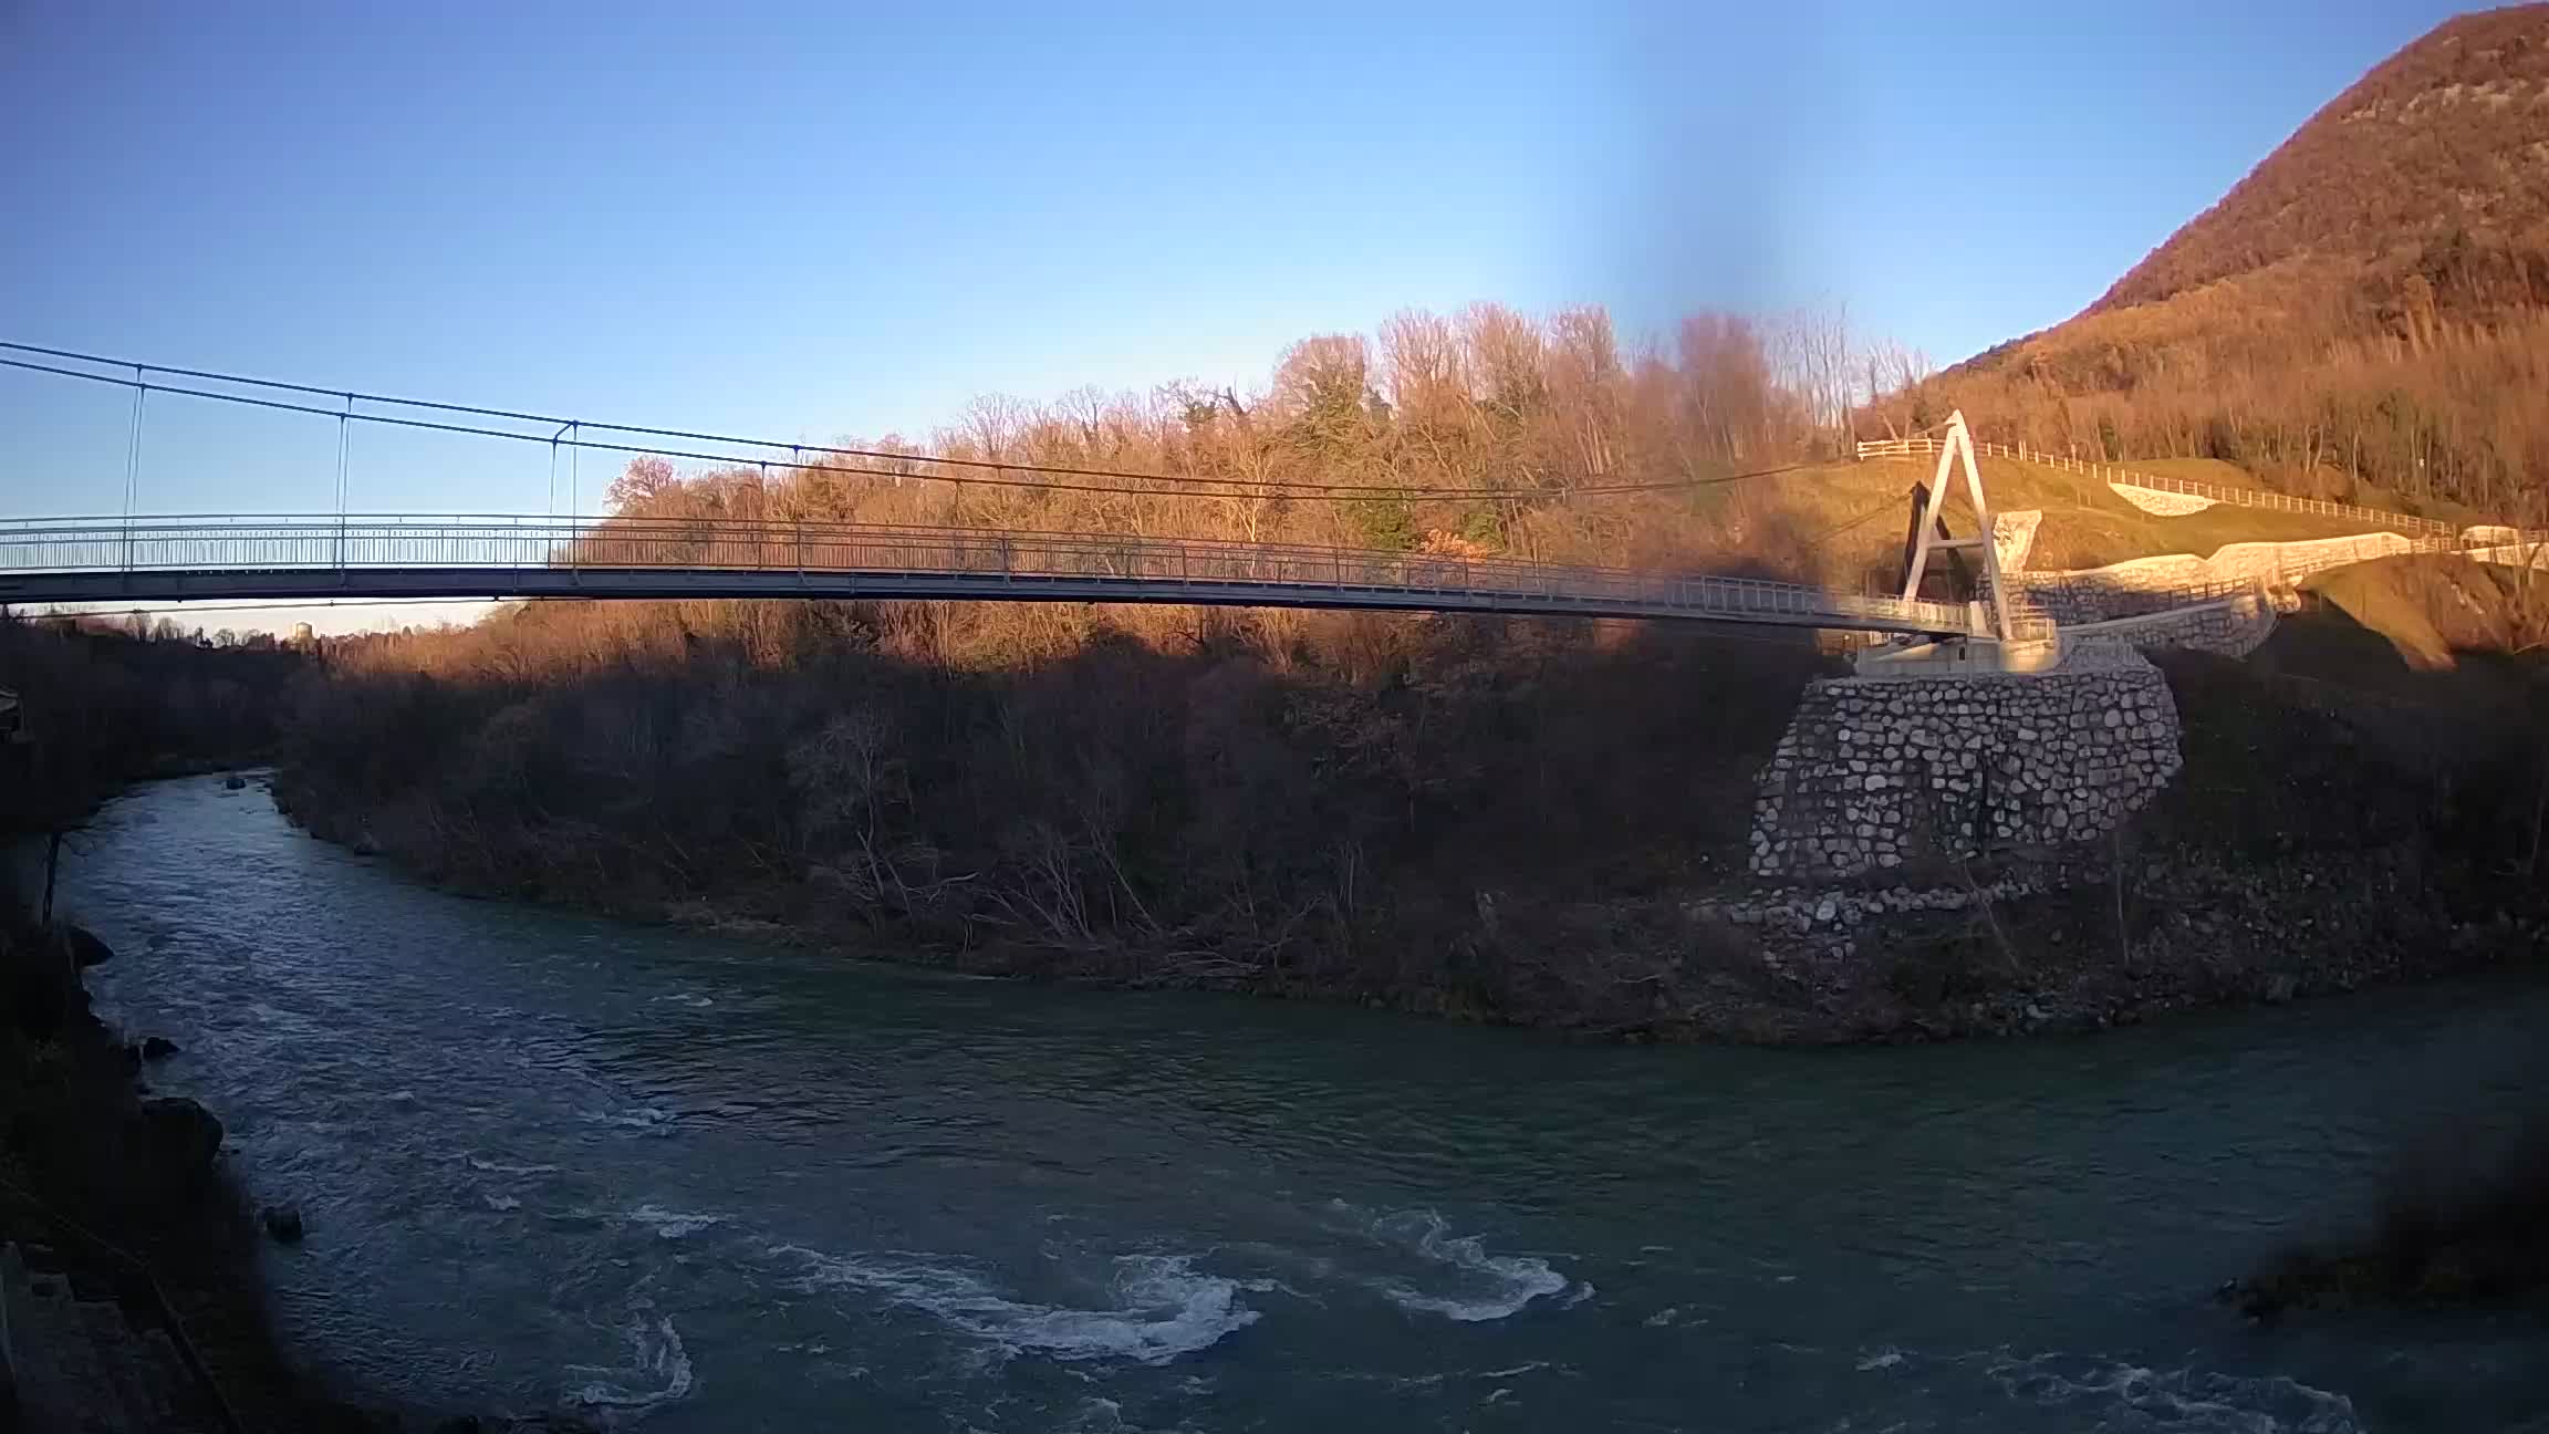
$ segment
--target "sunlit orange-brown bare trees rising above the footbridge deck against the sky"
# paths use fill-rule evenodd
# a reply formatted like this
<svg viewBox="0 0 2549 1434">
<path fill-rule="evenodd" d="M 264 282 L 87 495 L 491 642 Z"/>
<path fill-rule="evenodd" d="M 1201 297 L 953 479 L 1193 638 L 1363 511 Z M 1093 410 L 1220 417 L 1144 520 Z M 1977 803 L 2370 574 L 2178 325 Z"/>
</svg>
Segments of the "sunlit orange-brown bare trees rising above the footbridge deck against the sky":
<svg viewBox="0 0 2549 1434">
<path fill-rule="evenodd" d="M 1772 508 L 1759 492 L 1672 485 L 1845 452 L 1863 385 L 1838 311 L 1774 324 L 1695 314 L 1670 344 L 1626 350 L 1601 309 L 1534 322 L 1478 304 L 1458 316 L 1397 314 L 1374 337 L 1303 339 L 1246 393 L 1188 380 L 1150 393 L 1081 388 L 1045 406 L 994 395 L 925 449 L 887 434 L 844 444 L 879 457 L 816 454 L 803 469 L 637 459 L 609 505 L 653 521 L 1201 536 L 1662 566 L 1751 554 Z M 1162 480 L 1027 482 L 1035 469 Z M 1354 495 L 1323 492 L 1346 487 Z M 602 543 L 596 561 L 609 554 Z"/>
</svg>

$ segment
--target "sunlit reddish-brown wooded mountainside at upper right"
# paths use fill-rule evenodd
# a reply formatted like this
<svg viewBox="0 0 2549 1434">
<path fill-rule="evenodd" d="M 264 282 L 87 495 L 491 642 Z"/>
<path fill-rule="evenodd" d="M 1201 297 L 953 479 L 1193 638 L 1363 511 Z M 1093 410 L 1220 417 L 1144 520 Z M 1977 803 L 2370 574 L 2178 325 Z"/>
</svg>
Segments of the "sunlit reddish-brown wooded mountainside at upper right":
<svg viewBox="0 0 2549 1434">
<path fill-rule="evenodd" d="M 2549 5 L 2447 20 L 2335 97 L 2095 306 L 1879 403 L 2095 459 L 2539 523 Z"/>
</svg>

